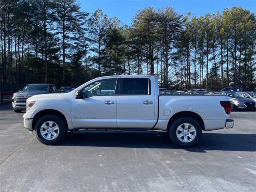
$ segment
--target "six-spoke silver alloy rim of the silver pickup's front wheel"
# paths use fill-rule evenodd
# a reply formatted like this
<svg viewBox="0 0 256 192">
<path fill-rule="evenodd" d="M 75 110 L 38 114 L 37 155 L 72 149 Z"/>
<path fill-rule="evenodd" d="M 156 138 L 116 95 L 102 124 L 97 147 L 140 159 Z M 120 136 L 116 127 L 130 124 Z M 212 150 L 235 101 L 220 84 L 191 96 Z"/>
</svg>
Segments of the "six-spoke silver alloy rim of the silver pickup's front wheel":
<svg viewBox="0 0 256 192">
<path fill-rule="evenodd" d="M 59 127 L 53 121 L 46 121 L 41 125 L 40 133 L 45 139 L 53 140 L 58 137 Z"/>
</svg>

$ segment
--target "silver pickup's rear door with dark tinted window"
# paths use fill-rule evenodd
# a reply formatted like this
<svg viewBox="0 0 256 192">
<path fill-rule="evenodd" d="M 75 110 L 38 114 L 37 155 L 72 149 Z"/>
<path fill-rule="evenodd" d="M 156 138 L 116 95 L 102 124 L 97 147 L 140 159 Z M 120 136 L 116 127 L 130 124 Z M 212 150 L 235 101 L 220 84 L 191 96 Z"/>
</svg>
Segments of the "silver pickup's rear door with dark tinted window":
<svg viewBox="0 0 256 192">
<path fill-rule="evenodd" d="M 122 77 L 117 99 L 117 127 L 150 129 L 155 119 L 153 78 Z"/>
</svg>

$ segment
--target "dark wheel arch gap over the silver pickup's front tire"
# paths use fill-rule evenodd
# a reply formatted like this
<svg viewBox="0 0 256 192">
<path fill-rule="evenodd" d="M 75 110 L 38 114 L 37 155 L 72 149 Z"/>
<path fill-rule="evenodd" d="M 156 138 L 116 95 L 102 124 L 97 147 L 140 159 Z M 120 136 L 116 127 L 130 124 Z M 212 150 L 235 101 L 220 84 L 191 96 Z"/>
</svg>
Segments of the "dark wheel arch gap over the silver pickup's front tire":
<svg viewBox="0 0 256 192">
<path fill-rule="evenodd" d="M 66 126 L 66 129 L 68 129 L 68 122 L 66 120 L 66 117 L 64 116 L 64 114 L 62 114 L 61 112 L 59 112 L 58 110 L 54 110 L 54 109 L 46 109 L 46 110 L 42 110 L 39 111 L 33 118 L 32 121 L 32 129 L 35 130 L 35 126 L 36 126 L 36 122 L 43 116 L 46 115 L 55 115 L 58 116 L 59 118 L 61 118 Z"/>
</svg>

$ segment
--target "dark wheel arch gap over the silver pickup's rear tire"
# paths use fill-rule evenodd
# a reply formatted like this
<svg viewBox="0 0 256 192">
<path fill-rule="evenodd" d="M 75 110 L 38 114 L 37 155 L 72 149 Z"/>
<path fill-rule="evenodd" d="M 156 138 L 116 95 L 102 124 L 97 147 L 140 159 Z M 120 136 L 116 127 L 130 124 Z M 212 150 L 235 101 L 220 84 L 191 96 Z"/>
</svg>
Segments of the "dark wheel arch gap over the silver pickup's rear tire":
<svg viewBox="0 0 256 192">
<path fill-rule="evenodd" d="M 191 111 L 182 111 L 182 112 L 177 112 L 176 114 L 172 115 L 172 117 L 170 118 L 168 124 L 167 124 L 167 131 L 169 131 L 170 129 L 170 126 L 172 125 L 172 123 L 180 118 L 180 117 L 191 117 L 191 118 L 194 118 L 201 126 L 202 130 L 204 130 L 204 121 L 203 119 L 201 118 L 200 115 L 198 115 L 197 113 L 195 112 L 191 112 Z"/>
</svg>

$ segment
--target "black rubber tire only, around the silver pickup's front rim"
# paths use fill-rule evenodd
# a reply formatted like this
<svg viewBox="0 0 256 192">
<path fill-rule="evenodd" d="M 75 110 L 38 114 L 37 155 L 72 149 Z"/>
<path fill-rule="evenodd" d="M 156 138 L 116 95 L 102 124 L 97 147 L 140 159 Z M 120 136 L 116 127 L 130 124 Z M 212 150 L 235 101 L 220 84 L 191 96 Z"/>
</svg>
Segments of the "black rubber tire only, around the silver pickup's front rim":
<svg viewBox="0 0 256 192">
<path fill-rule="evenodd" d="M 41 126 L 48 121 L 52 121 L 54 122 L 54 124 L 56 124 L 59 128 L 58 130 L 58 136 L 56 136 L 56 138 L 53 138 L 52 140 L 47 140 L 46 138 L 44 138 L 44 136 L 42 136 L 41 134 Z M 62 141 L 64 141 L 64 139 L 67 136 L 67 128 L 65 126 L 65 123 L 63 122 L 63 120 L 55 115 L 46 115 L 41 117 L 37 122 L 36 122 L 36 126 L 35 126 L 35 132 L 36 132 L 36 137 L 38 138 L 38 140 L 45 144 L 45 145 L 56 145 Z M 53 136 L 53 134 L 52 134 Z"/>
</svg>

